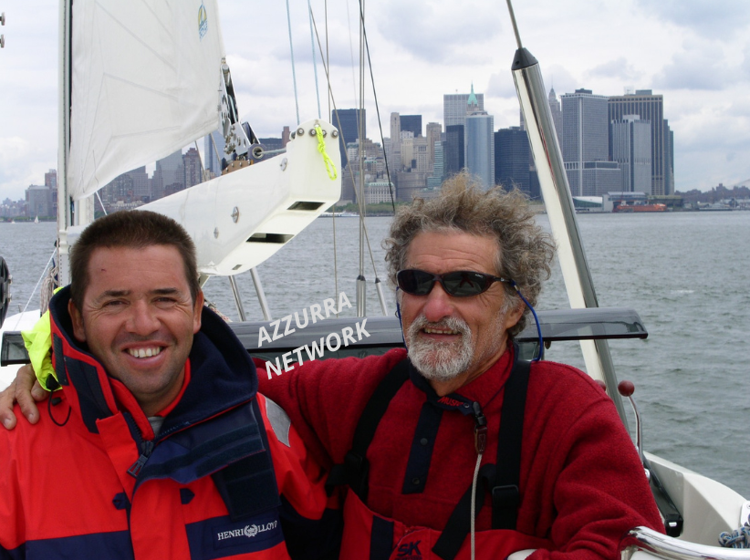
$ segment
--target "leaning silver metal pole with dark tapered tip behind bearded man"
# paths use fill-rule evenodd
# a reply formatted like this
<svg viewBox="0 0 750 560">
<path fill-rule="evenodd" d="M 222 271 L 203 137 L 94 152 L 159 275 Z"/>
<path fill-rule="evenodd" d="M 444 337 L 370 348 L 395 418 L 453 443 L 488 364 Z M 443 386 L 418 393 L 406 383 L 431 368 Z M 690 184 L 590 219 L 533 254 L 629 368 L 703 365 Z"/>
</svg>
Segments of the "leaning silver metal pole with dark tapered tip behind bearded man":
<svg viewBox="0 0 750 560">
<path fill-rule="evenodd" d="M 557 257 L 562 268 L 568 300 L 573 308 L 599 307 L 589 263 L 578 231 L 573 197 L 570 194 L 562 152 L 557 144 L 555 123 L 549 110 L 542 72 L 536 58 L 521 44 L 511 0 L 507 0 L 507 5 L 518 46 L 511 67 L 513 79 L 516 82 L 521 111 L 526 120 L 526 132 L 534 155 L 547 216 L 557 243 Z M 606 383 L 609 396 L 614 400 L 620 413 L 620 419 L 627 426 L 622 401 L 615 397 L 619 394 L 617 377 L 607 340 L 581 340 L 580 346 L 589 376 Z"/>
</svg>

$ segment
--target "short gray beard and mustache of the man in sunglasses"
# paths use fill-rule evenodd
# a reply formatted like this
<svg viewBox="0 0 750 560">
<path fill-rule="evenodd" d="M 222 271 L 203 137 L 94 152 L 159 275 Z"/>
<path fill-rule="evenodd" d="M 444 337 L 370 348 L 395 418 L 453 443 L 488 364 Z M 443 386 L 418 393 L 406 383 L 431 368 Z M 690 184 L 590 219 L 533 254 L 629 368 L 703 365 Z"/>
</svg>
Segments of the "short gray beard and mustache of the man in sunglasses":
<svg viewBox="0 0 750 560">
<path fill-rule="evenodd" d="M 447 328 L 461 333 L 461 340 L 446 344 L 419 337 L 424 327 Z M 472 331 L 461 319 L 446 317 L 437 323 L 430 323 L 424 316 L 418 316 L 406 333 L 409 359 L 426 379 L 450 381 L 464 373 L 472 363 L 474 344 Z"/>
</svg>

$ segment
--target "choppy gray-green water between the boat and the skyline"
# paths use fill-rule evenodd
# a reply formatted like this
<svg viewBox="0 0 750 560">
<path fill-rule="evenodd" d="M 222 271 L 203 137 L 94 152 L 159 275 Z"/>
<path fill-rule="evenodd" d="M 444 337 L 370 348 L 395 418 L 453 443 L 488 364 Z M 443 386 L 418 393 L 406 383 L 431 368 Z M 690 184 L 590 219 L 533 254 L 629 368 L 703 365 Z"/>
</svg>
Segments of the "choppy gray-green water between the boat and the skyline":
<svg viewBox="0 0 750 560">
<path fill-rule="evenodd" d="M 547 227 L 546 216 L 539 221 Z M 389 222 L 368 220 L 384 287 L 380 240 Z M 634 307 L 650 333 L 610 343 L 619 379 L 636 384 L 646 449 L 750 497 L 750 213 L 581 214 L 578 222 L 599 305 Z M 332 220 L 318 219 L 259 267 L 274 316 L 336 294 L 332 228 Z M 338 219 L 336 229 L 338 289 L 354 305 L 359 220 Z M 26 305 L 54 239 L 53 223 L 0 223 L 0 255 L 14 276 L 11 312 Z M 369 256 L 365 275 L 374 279 Z M 260 318 L 250 276 L 238 285 L 248 318 Z M 226 279 L 205 292 L 236 319 Z M 557 268 L 539 307 L 565 306 Z M 368 312 L 380 314 L 371 285 Z M 583 366 L 576 344 L 556 344 L 547 358 Z"/>
</svg>

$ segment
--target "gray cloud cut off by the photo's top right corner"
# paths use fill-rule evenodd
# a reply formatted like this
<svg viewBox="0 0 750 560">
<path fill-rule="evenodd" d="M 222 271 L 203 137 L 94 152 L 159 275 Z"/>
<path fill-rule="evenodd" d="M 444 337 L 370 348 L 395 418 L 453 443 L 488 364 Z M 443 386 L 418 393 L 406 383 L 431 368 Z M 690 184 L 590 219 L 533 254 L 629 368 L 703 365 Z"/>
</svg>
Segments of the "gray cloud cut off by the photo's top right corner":
<svg viewBox="0 0 750 560">
<path fill-rule="evenodd" d="M 647 14 L 718 40 L 746 32 L 750 25 L 747 0 L 637 0 L 637 3 Z"/>
</svg>

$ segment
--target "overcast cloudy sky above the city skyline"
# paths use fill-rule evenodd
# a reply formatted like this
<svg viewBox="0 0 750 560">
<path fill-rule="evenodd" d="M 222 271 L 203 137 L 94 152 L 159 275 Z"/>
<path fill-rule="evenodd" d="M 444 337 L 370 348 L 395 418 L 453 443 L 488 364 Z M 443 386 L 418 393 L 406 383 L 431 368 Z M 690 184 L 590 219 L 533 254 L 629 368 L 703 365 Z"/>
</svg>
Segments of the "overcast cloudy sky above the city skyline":
<svg viewBox="0 0 750 560">
<path fill-rule="evenodd" d="M 322 34 L 324 0 L 311 0 Z M 289 0 L 302 120 L 318 116 L 307 0 Z M 261 137 L 297 123 L 286 3 L 220 0 L 224 43 L 243 118 Z M 625 88 L 664 96 L 674 131 L 675 188 L 708 190 L 750 178 L 750 2 L 516 0 L 524 46 L 557 95 Z M 328 49 L 339 109 L 358 106 L 354 0 L 328 0 Z M 0 201 L 22 198 L 57 168 L 55 0 L 0 0 Z M 495 130 L 518 124 L 510 65 L 516 39 L 505 2 L 367 0 L 367 33 L 383 134 L 391 111 L 443 122 L 443 94 L 484 93 Z M 352 35 L 350 35 L 350 33 Z M 321 40 L 325 41 L 325 38 Z M 369 72 L 369 70 L 368 70 Z M 318 58 L 322 113 L 328 114 Z M 380 141 L 368 79 L 367 132 Z M 201 146 L 203 148 L 203 146 Z"/>
</svg>

